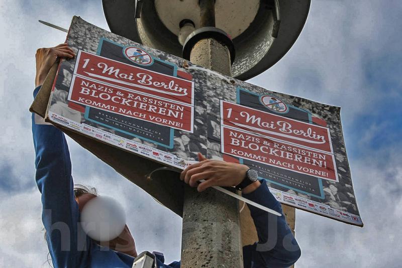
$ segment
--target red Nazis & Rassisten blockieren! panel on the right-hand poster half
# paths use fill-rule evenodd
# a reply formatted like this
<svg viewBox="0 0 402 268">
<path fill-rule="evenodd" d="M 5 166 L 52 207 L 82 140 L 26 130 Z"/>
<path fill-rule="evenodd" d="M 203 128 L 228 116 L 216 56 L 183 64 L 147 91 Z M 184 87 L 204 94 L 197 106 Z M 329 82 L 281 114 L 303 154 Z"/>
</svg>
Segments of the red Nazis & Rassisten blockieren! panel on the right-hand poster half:
<svg viewBox="0 0 402 268">
<path fill-rule="evenodd" d="M 326 180 L 338 181 L 334 155 L 222 126 L 222 152 Z"/>
</svg>

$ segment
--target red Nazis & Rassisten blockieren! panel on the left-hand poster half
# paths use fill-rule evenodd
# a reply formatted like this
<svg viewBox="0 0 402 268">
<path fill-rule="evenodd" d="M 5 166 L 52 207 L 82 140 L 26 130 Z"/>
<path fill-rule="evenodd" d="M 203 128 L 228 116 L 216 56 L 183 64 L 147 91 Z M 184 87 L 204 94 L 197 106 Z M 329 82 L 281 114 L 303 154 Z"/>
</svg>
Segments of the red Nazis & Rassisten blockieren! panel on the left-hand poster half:
<svg viewBox="0 0 402 268">
<path fill-rule="evenodd" d="M 68 100 L 192 132 L 193 107 L 73 76 Z"/>
</svg>

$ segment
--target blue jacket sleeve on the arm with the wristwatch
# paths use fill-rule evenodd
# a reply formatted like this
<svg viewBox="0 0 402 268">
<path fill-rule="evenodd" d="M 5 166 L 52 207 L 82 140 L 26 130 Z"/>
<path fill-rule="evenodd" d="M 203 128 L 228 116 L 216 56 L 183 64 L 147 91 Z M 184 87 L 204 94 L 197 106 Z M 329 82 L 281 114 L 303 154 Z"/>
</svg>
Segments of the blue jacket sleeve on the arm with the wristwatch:
<svg viewBox="0 0 402 268">
<path fill-rule="evenodd" d="M 282 214 L 282 207 L 266 182 L 260 182 L 260 187 L 243 196 Z M 253 206 L 249 209 L 257 229 L 258 242 L 243 247 L 244 267 L 288 267 L 296 262 L 300 257 L 300 248 L 284 214 L 278 217 Z"/>
</svg>

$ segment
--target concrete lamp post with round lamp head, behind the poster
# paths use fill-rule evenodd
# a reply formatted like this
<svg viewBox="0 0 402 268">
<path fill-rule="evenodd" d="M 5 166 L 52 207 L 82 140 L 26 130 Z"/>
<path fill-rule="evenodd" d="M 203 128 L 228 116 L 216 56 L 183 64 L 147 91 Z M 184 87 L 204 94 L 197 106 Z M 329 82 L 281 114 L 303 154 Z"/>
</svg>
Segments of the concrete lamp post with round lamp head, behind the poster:
<svg viewBox="0 0 402 268">
<path fill-rule="evenodd" d="M 103 0 L 103 7 L 113 33 L 247 80 L 290 49 L 306 22 L 310 0 Z M 197 193 L 190 187 L 180 198 L 181 266 L 243 267 L 247 239 L 240 231 L 244 222 L 238 201 L 214 189 Z M 294 209 L 285 207 L 284 213 L 292 214 L 288 222 L 294 229 Z"/>
</svg>

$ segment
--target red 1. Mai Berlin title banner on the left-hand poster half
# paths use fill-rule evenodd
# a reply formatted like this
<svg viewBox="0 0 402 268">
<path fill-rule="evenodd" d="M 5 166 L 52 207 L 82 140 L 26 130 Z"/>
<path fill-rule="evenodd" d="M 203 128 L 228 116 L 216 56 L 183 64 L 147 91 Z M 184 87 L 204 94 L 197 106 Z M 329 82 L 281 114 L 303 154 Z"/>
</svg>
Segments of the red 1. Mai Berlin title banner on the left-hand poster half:
<svg viewBox="0 0 402 268">
<path fill-rule="evenodd" d="M 79 51 L 75 74 L 173 101 L 193 104 L 194 83 Z"/>
</svg>

